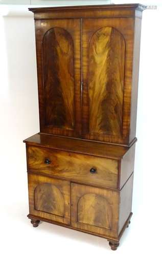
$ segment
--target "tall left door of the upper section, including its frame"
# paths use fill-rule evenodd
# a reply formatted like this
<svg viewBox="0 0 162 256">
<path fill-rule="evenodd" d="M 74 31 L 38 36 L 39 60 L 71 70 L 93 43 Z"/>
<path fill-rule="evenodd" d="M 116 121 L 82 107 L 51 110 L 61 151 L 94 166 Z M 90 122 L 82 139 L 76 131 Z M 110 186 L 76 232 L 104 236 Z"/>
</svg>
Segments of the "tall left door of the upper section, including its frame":
<svg viewBox="0 0 162 256">
<path fill-rule="evenodd" d="M 40 132 L 81 134 L 80 19 L 35 21 Z"/>
</svg>

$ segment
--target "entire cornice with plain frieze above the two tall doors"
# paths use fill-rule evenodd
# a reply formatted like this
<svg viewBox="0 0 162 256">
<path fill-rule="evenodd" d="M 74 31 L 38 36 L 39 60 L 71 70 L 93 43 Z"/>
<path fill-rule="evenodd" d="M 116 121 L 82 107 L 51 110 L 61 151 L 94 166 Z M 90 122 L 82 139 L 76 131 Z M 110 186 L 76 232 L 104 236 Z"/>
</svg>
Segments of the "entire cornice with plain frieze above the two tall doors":
<svg viewBox="0 0 162 256">
<path fill-rule="evenodd" d="M 142 11 L 146 6 L 141 4 L 121 5 L 90 5 L 90 6 L 66 6 L 48 8 L 29 8 L 34 12 L 35 19 L 53 18 L 114 18 L 114 17 L 142 17 Z"/>
</svg>

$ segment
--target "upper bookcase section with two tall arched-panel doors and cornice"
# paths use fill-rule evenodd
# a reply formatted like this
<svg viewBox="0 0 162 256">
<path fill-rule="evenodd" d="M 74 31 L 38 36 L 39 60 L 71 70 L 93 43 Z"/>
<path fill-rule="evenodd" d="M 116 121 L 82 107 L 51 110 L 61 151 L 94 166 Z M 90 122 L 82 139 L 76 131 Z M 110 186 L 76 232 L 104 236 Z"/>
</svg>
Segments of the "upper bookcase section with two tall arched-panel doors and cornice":
<svg viewBox="0 0 162 256">
<path fill-rule="evenodd" d="M 143 8 L 118 8 L 31 9 L 41 133 L 123 145 L 135 139 Z"/>
</svg>

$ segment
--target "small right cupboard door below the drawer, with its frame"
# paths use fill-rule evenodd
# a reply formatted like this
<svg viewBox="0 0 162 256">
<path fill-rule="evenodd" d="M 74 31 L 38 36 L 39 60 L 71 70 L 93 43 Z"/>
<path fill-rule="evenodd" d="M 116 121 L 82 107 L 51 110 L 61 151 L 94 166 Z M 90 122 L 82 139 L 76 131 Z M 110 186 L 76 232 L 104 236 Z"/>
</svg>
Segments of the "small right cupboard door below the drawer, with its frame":
<svg viewBox="0 0 162 256">
<path fill-rule="evenodd" d="M 71 225 L 105 237 L 118 237 L 118 191 L 71 183 Z"/>
</svg>

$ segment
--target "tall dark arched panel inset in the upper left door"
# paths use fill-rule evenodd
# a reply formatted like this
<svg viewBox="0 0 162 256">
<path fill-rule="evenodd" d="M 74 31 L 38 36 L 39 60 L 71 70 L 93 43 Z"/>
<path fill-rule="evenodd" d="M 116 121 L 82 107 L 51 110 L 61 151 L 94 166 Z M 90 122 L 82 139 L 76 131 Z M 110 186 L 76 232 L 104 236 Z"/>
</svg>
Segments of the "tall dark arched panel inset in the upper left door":
<svg viewBox="0 0 162 256">
<path fill-rule="evenodd" d="M 74 44 L 70 33 L 52 28 L 45 33 L 43 86 L 45 126 L 74 129 Z"/>
</svg>

